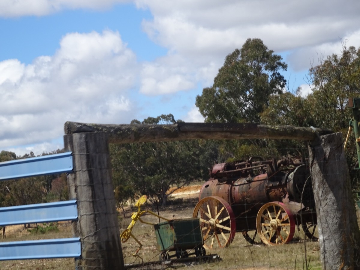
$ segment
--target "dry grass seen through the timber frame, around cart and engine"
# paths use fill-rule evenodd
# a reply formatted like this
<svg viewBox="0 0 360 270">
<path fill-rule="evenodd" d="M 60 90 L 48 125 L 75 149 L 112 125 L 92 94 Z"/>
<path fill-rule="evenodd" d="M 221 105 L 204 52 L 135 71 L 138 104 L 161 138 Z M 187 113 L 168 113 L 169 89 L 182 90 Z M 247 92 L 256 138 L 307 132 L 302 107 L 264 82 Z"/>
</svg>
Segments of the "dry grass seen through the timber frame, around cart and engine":
<svg viewBox="0 0 360 270">
<path fill-rule="evenodd" d="M 183 204 L 162 207 L 159 211 L 161 216 L 166 218 L 189 218 L 197 198 L 186 200 Z M 144 209 L 156 212 L 156 208 L 145 206 Z M 130 213 L 127 214 L 130 216 Z M 151 215 L 144 215 L 145 221 L 157 223 L 158 219 Z M 131 219 L 122 220 L 122 229 L 126 229 Z M 139 221 L 133 229 L 133 234 L 143 244 L 139 255 L 143 262 L 156 261 L 160 251 L 157 249 L 154 228 L 151 225 L 141 224 Z M 200 269 L 306 269 L 305 267 L 305 247 L 302 229 L 296 231 L 292 242 L 282 246 L 253 246 L 249 244 L 241 233 L 235 235 L 233 243 L 228 248 L 217 248 L 207 250 L 207 254 L 218 254 L 222 261 L 206 264 L 190 264 L 188 267 L 194 270 Z M 132 256 L 138 248 L 134 239 L 130 238 L 122 244 L 124 260 L 126 263 L 140 263 L 141 259 Z M 310 261 L 312 270 L 321 269 L 319 258 L 319 243 L 306 242 L 307 261 Z"/>
</svg>

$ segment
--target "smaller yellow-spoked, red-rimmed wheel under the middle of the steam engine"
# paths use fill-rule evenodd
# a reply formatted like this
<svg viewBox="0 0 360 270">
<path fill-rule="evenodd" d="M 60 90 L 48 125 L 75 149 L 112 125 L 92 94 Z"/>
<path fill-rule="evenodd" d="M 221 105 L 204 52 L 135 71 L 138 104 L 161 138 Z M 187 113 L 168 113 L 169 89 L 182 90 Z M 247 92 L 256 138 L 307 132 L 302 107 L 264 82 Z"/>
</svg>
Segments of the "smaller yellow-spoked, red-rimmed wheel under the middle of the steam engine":
<svg viewBox="0 0 360 270">
<path fill-rule="evenodd" d="M 282 202 L 265 203 L 257 213 L 256 229 L 265 244 L 284 244 L 294 236 L 295 219 Z"/>
</svg>

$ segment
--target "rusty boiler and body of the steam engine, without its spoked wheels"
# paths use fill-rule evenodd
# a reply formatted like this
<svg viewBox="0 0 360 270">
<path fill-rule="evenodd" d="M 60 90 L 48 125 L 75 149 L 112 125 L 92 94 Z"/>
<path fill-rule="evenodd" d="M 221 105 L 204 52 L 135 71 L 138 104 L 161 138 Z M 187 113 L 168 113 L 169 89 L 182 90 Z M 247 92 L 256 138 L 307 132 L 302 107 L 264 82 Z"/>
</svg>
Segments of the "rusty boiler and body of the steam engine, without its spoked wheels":
<svg viewBox="0 0 360 270">
<path fill-rule="evenodd" d="M 310 172 L 302 159 L 284 157 L 276 162 L 251 158 L 220 163 L 210 176 L 201 188 L 199 200 L 215 196 L 228 202 L 235 215 L 236 231 L 255 230 L 260 208 L 283 199 L 293 215 L 301 212 L 303 222 L 316 224 Z M 296 218 L 296 224 L 301 225 L 300 218 Z"/>
</svg>

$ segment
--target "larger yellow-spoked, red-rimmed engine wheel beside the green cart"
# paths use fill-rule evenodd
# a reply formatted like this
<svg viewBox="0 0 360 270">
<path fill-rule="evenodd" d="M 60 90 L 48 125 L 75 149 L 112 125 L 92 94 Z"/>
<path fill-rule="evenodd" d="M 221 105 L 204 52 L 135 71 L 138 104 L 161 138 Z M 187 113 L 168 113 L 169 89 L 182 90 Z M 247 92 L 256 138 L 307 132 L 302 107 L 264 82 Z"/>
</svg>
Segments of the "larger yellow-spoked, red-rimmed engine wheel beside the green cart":
<svg viewBox="0 0 360 270">
<path fill-rule="evenodd" d="M 235 237 L 235 215 L 220 197 L 205 197 L 195 206 L 193 217 L 200 218 L 205 248 L 227 247 Z"/>
</svg>

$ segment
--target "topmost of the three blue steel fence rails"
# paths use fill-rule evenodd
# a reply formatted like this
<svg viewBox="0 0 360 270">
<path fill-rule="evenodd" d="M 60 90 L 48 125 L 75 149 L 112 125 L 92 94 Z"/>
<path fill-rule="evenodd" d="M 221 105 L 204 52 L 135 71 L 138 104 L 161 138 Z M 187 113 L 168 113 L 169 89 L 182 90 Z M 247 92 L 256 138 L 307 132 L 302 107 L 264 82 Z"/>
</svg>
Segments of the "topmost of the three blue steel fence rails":
<svg viewBox="0 0 360 270">
<path fill-rule="evenodd" d="M 0 162 L 0 180 L 72 172 L 72 152 Z"/>
</svg>

